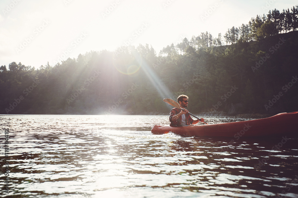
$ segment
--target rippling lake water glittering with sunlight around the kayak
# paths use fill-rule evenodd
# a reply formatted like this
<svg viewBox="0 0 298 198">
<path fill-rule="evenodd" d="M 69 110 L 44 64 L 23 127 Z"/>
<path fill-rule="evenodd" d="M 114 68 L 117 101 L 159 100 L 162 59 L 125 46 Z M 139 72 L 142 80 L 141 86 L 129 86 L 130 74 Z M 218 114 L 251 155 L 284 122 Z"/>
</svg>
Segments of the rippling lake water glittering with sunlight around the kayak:
<svg viewBox="0 0 298 198">
<path fill-rule="evenodd" d="M 298 197 L 297 138 L 151 134 L 168 116 L 0 118 L 2 197 Z"/>
</svg>

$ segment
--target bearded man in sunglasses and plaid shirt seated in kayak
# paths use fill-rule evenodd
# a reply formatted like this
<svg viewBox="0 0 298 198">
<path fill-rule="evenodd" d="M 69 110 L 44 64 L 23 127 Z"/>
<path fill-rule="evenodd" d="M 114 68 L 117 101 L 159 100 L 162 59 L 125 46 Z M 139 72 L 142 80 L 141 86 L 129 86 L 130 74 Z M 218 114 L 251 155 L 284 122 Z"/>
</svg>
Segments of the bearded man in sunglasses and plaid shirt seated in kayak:
<svg viewBox="0 0 298 198">
<path fill-rule="evenodd" d="M 177 102 L 179 103 L 180 107 L 184 109 L 173 108 L 170 112 L 170 126 L 187 126 L 190 124 L 196 124 L 200 122 L 200 120 L 193 120 L 188 113 L 188 110 L 185 109 L 188 104 L 188 96 L 180 95 L 177 98 Z M 201 122 L 204 122 L 204 119 L 201 118 Z"/>
</svg>

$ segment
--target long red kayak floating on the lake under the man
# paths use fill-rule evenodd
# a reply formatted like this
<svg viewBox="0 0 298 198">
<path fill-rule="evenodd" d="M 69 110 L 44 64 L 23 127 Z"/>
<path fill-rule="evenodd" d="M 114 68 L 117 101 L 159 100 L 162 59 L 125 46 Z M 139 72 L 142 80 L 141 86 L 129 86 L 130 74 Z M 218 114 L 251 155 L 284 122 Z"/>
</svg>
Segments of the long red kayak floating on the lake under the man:
<svg viewBox="0 0 298 198">
<path fill-rule="evenodd" d="M 188 125 L 172 127 L 170 125 L 155 125 L 151 129 L 153 134 L 165 134 L 173 132 L 175 134 L 209 137 L 256 137 L 274 135 L 297 135 L 298 131 L 298 111 L 292 113 L 280 113 L 269 118 L 248 120 L 240 122 Z"/>
</svg>

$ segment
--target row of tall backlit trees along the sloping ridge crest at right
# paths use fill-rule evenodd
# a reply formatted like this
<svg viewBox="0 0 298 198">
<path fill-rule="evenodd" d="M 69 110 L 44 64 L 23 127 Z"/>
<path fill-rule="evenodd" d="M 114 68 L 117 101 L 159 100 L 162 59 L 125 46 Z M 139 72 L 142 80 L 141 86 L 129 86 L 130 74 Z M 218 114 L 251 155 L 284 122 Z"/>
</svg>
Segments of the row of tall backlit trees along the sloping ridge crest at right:
<svg viewBox="0 0 298 198">
<path fill-rule="evenodd" d="M 212 34 L 202 32 L 198 36 L 192 36 L 190 40 L 184 39 L 176 47 L 180 53 L 184 53 L 188 46 L 198 50 L 199 48 L 222 46 L 235 44 L 236 42 L 250 42 L 264 39 L 280 33 L 296 31 L 298 29 L 298 5 L 291 9 L 283 9 L 280 12 L 277 9 L 269 10 L 268 14 L 257 15 L 251 18 L 248 24 L 242 24 L 240 27 L 233 26 L 228 28 L 224 35 L 218 34 L 213 37 Z M 170 46 L 164 47 L 162 53 L 166 53 Z"/>
</svg>

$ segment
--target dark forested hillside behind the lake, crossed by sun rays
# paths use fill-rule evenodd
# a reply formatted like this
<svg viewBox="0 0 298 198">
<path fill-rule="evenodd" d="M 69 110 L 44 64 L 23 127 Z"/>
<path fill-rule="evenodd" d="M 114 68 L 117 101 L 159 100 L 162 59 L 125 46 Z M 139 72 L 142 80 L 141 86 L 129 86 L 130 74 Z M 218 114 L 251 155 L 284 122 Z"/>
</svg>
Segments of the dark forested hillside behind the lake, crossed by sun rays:
<svg viewBox="0 0 298 198">
<path fill-rule="evenodd" d="M 192 113 L 298 110 L 298 6 L 252 18 L 214 38 L 90 51 L 35 69 L 0 67 L 0 114 L 168 114 L 186 94 Z"/>
</svg>

